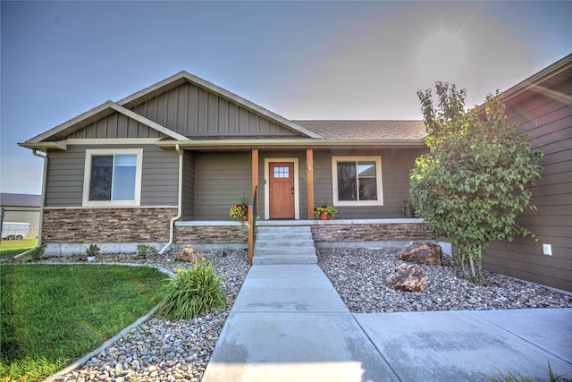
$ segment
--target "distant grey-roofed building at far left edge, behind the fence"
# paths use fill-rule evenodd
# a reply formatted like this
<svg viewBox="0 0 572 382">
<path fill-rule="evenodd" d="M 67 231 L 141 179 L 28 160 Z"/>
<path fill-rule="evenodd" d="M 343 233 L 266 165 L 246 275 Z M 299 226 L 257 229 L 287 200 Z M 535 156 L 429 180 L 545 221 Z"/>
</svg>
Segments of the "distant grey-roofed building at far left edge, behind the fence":
<svg viewBox="0 0 572 382">
<path fill-rule="evenodd" d="M 41 195 L 0 193 L 0 208 L 4 223 L 27 223 L 28 237 L 38 237 Z M 5 227 L 3 233 L 5 233 Z"/>
</svg>

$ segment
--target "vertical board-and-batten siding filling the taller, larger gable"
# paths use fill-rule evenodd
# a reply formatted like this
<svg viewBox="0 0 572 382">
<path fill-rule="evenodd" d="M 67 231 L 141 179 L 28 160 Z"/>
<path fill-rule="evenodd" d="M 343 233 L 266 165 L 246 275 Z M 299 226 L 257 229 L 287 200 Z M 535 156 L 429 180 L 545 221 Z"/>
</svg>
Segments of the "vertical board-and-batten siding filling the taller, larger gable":
<svg viewBox="0 0 572 382">
<path fill-rule="evenodd" d="M 185 136 L 296 135 L 189 83 L 132 110 Z"/>
</svg>

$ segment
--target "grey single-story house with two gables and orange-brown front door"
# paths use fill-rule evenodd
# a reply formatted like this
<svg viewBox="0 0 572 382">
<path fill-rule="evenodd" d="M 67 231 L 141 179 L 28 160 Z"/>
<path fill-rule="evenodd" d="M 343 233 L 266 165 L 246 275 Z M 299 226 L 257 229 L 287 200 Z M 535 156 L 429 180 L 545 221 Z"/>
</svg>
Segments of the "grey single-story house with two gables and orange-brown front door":
<svg viewBox="0 0 572 382">
<path fill-rule="evenodd" d="M 311 225 L 317 246 L 429 238 L 407 219 L 422 121 L 290 121 L 180 72 L 21 143 L 46 153 L 47 254 L 244 247 L 229 210 L 257 190 L 258 225 Z M 327 201 L 336 220 L 314 220 Z"/>
</svg>

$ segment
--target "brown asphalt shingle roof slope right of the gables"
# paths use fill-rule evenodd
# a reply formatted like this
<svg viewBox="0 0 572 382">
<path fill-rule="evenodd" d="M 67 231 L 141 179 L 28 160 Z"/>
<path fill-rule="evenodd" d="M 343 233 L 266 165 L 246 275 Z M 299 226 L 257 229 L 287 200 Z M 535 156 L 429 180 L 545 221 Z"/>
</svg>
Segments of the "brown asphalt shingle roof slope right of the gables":
<svg viewBox="0 0 572 382">
<path fill-rule="evenodd" d="M 423 121 L 292 121 L 333 140 L 423 140 Z"/>
</svg>

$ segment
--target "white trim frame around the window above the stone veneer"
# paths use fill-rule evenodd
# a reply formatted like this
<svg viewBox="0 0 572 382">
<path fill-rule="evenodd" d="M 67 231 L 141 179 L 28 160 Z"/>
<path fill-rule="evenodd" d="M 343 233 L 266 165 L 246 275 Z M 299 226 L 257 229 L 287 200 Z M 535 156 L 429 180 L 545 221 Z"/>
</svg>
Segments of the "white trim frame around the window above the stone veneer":
<svg viewBox="0 0 572 382">
<path fill-rule="evenodd" d="M 135 169 L 135 200 L 89 200 L 91 181 L 91 158 L 100 155 L 137 155 Z M 141 204 L 141 174 L 143 168 L 143 149 L 87 149 L 86 166 L 83 173 L 83 207 L 137 207 Z"/>
</svg>

